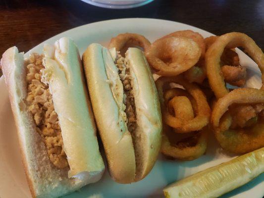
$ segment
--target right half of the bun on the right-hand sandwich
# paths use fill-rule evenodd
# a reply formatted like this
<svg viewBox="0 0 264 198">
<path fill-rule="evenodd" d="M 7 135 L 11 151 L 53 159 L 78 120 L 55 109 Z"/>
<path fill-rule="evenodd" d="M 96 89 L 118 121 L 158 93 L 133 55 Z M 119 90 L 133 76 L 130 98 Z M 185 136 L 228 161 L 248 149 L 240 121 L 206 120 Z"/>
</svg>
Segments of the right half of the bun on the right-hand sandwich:
<svg viewBox="0 0 264 198">
<path fill-rule="evenodd" d="M 133 139 L 137 162 L 135 181 L 139 181 L 151 171 L 158 157 L 161 113 L 157 88 L 143 52 L 137 48 L 129 48 L 126 58 L 130 73 L 135 76 L 132 93 L 136 104 L 137 129 Z"/>
</svg>

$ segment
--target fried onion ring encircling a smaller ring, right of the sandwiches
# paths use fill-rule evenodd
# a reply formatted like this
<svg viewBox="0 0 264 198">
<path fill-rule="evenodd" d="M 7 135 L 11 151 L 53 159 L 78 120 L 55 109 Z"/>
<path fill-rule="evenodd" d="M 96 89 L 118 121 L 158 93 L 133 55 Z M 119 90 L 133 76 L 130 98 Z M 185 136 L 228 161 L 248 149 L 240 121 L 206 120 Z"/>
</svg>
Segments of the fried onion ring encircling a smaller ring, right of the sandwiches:
<svg viewBox="0 0 264 198">
<path fill-rule="evenodd" d="M 191 120 L 182 120 L 178 115 L 171 115 L 163 99 L 163 88 L 169 83 L 176 83 L 184 87 L 186 91 L 195 99 L 197 112 L 196 116 Z M 211 109 L 208 105 L 206 96 L 198 86 L 187 82 L 180 76 L 176 77 L 161 77 L 156 81 L 158 94 L 161 101 L 162 115 L 164 122 L 179 131 L 179 133 L 187 133 L 199 131 L 209 123 Z M 177 106 L 175 107 L 177 108 Z"/>
</svg>

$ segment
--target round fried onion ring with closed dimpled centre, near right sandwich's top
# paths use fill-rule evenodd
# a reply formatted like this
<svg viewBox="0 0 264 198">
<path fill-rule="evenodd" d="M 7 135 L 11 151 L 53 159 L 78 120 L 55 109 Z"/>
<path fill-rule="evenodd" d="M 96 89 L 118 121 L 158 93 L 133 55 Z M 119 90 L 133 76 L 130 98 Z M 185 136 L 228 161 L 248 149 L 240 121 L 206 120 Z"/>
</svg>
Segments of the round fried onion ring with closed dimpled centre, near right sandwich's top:
<svg viewBox="0 0 264 198">
<path fill-rule="evenodd" d="M 201 49 L 192 39 L 169 37 L 155 41 L 145 54 L 155 73 L 176 76 L 197 63 Z"/>
</svg>

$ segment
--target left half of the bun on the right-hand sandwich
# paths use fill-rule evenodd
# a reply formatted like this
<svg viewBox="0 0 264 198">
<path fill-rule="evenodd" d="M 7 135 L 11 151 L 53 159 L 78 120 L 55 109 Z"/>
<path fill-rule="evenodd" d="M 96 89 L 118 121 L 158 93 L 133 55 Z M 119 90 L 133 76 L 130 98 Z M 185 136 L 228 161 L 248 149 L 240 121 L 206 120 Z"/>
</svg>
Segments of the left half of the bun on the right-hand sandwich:
<svg viewBox="0 0 264 198">
<path fill-rule="evenodd" d="M 92 44 L 83 54 L 89 94 L 108 170 L 116 182 L 131 183 L 136 172 L 133 142 L 130 133 L 118 126 L 119 108 L 109 87 L 102 49 L 101 45 Z"/>
</svg>

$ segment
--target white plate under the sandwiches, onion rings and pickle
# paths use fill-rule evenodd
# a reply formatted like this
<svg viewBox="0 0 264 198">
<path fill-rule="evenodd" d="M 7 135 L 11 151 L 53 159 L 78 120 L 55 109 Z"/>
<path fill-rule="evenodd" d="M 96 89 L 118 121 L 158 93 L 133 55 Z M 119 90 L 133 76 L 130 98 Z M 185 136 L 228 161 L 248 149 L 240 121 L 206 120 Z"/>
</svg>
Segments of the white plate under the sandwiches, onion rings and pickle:
<svg viewBox="0 0 264 198">
<path fill-rule="evenodd" d="M 204 37 L 212 34 L 204 30 L 182 23 L 158 19 L 117 19 L 92 23 L 63 32 L 45 43 L 53 44 L 60 37 L 71 37 L 77 44 L 82 54 L 87 46 L 97 42 L 106 45 L 110 38 L 119 33 L 139 33 L 147 37 L 151 42 L 170 32 L 177 30 L 193 30 Z M 32 51 L 41 53 L 43 43 Z M 241 64 L 248 67 L 247 86 L 260 88 L 260 70 L 247 55 L 237 50 Z M 28 54 L 28 53 L 27 53 Z M 142 181 L 134 184 L 118 184 L 113 182 L 106 171 L 103 179 L 96 184 L 88 185 L 79 192 L 64 198 L 91 198 L 92 195 L 104 198 L 159 198 L 162 197 L 162 189 L 171 182 L 204 170 L 208 167 L 230 160 L 235 156 L 225 153 L 211 136 L 205 155 L 194 161 L 171 161 L 159 156 L 151 173 Z M 252 182 L 238 188 L 222 198 L 262 198 L 264 195 L 264 174 Z M 0 198 L 29 198 L 25 174 L 19 154 L 14 119 L 9 105 L 8 94 L 3 77 L 0 78 Z"/>
</svg>

